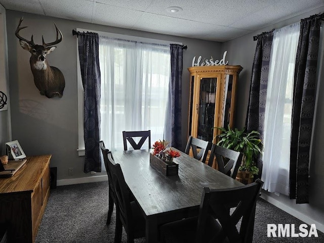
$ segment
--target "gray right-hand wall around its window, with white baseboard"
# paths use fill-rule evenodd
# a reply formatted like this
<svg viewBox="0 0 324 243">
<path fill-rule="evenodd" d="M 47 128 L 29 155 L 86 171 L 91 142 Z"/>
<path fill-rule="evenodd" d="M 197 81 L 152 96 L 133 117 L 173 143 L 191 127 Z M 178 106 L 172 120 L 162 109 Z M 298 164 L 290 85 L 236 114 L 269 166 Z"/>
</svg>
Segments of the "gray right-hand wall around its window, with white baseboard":
<svg viewBox="0 0 324 243">
<path fill-rule="evenodd" d="M 311 15 L 322 13 L 324 8 L 318 8 L 303 15 L 294 17 L 292 19 L 276 23 L 267 28 L 260 29 L 251 34 L 235 38 L 232 41 L 226 42 L 222 45 L 222 50 L 229 52 L 228 59 L 234 60 L 234 65 L 241 65 L 245 69 L 240 73 L 239 85 L 237 94 L 237 104 L 239 105 L 238 113 L 235 119 L 236 127 L 242 128 L 245 125 L 246 112 L 248 107 L 248 97 L 251 83 L 251 70 L 253 58 L 257 42 L 253 41 L 253 36 L 264 31 L 270 31 L 273 28 L 281 28 L 307 18 Z M 322 77 L 323 80 L 324 77 Z M 324 92 L 324 87 L 319 87 L 319 94 Z M 274 193 L 263 191 L 263 197 L 272 204 L 278 206 L 295 217 L 304 220 L 307 223 L 316 223 L 316 226 L 321 231 L 324 231 L 324 127 L 321 126 L 324 122 L 324 96 L 320 95 L 318 98 L 317 115 L 315 117 L 315 137 L 314 148 L 310 166 L 310 203 L 304 205 L 296 205 L 296 200 L 291 200 L 288 196 L 277 196 Z"/>
</svg>

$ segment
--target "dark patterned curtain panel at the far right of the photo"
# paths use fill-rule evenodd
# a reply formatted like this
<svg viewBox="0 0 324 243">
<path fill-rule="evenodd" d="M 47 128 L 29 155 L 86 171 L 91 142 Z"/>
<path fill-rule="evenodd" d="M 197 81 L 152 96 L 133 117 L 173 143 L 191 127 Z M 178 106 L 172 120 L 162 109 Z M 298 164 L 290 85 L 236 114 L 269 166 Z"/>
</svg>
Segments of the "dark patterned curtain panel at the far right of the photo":
<svg viewBox="0 0 324 243">
<path fill-rule="evenodd" d="M 290 198 L 309 203 L 308 166 L 316 96 L 316 68 L 322 16 L 302 19 L 293 90 L 290 150 Z"/>
</svg>

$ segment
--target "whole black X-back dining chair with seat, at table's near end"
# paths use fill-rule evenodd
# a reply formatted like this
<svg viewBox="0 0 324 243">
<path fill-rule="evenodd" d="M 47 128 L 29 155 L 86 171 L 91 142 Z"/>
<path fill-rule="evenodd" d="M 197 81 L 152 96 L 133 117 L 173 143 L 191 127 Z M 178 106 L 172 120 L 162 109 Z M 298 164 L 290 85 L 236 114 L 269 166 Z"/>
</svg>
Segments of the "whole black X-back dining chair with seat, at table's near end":
<svg viewBox="0 0 324 243">
<path fill-rule="evenodd" d="M 256 202 L 262 184 L 257 179 L 256 182 L 241 187 L 217 190 L 204 187 L 198 216 L 162 225 L 161 242 L 251 243 Z M 231 214 L 228 205 L 237 205 Z"/>
</svg>

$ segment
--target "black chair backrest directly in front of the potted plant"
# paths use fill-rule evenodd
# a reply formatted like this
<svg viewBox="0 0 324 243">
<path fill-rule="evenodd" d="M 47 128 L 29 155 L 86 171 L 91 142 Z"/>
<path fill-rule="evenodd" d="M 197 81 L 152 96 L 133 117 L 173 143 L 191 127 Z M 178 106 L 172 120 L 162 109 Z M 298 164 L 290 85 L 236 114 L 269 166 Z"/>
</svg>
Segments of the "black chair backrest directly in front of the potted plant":
<svg viewBox="0 0 324 243">
<path fill-rule="evenodd" d="M 209 166 L 213 165 L 214 156 L 217 160 L 218 170 L 235 179 L 238 167 L 242 162 L 243 154 L 241 152 L 213 144 L 211 155 L 208 160 Z"/>
</svg>

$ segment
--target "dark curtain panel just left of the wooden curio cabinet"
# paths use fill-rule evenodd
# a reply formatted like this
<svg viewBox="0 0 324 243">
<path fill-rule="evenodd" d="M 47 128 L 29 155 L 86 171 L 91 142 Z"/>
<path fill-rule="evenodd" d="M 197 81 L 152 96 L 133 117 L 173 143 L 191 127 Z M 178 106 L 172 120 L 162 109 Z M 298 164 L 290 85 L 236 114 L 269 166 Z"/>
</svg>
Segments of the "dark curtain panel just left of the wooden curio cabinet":
<svg viewBox="0 0 324 243">
<path fill-rule="evenodd" d="M 170 44 L 171 51 L 171 146 L 182 149 L 181 91 L 183 46 Z"/>
</svg>

